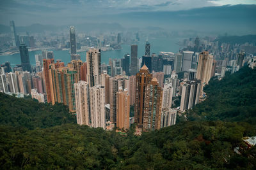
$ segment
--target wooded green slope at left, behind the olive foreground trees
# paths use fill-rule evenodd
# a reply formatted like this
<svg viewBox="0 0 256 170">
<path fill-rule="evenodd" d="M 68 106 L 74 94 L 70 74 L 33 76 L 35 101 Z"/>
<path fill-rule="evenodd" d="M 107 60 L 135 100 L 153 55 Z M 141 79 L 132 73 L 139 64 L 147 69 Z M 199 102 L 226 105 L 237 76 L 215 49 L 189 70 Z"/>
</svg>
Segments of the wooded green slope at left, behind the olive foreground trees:
<svg viewBox="0 0 256 170">
<path fill-rule="evenodd" d="M 55 125 L 76 123 L 68 107 L 58 103 L 38 103 L 33 99 L 19 99 L 0 92 L 0 124 L 26 127 L 28 129 L 46 128 Z"/>
</svg>

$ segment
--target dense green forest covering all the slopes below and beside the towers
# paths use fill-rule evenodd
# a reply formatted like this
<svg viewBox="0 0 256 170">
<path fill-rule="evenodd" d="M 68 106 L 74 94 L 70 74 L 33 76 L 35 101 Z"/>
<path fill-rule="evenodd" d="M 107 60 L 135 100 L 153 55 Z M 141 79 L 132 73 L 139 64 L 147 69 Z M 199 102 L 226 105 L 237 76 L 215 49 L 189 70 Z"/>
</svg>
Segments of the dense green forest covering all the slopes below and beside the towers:
<svg viewBox="0 0 256 170">
<path fill-rule="evenodd" d="M 63 104 L 38 103 L 0 93 L 1 169 L 255 169 L 256 71 L 243 67 L 212 78 L 207 99 L 159 131 L 127 136 L 76 124 Z"/>
</svg>

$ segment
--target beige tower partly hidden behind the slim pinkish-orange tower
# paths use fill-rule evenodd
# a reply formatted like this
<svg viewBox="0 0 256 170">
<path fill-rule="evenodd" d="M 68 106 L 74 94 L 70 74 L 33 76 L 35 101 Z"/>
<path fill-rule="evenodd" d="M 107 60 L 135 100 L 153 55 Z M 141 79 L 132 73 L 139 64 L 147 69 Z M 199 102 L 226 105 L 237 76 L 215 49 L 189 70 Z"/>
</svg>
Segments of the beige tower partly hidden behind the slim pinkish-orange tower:
<svg viewBox="0 0 256 170">
<path fill-rule="evenodd" d="M 129 85 L 129 80 L 123 76 L 115 76 L 109 78 L 109 104 L 110 104 L 110 122 L 116 123 L 116 92 L 118 88 L 126 89 Z"/>
</svg>

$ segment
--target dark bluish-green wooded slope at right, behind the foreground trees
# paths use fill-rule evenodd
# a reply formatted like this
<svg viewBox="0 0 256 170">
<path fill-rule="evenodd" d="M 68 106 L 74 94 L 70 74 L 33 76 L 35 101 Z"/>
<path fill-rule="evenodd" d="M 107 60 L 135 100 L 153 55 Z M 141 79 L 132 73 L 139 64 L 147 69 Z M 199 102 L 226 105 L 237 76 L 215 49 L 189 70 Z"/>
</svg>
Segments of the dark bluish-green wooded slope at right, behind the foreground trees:
<svg viewBox="0 0 256 170">
<path fill-rule="evenodd" d="M 223 80 L 212 78 L 204 89 L 207 100 L 190 110 L 190 120 L 224 120 L 256 125 L 256 69 L 243 67 Z"/>
</svg>

